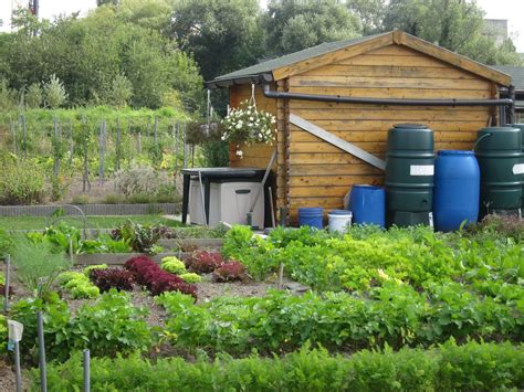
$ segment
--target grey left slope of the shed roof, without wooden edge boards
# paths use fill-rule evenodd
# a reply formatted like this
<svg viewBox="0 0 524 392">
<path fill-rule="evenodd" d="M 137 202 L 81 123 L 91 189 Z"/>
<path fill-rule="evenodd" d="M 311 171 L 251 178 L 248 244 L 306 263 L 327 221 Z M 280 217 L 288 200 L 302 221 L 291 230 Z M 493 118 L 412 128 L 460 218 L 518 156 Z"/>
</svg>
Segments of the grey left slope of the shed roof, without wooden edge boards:
<svg viewBox="0 0 524 392">
<path fill-rule="evenodd" d="M 283 67 L 283 66 L 291 65 L 291 64 L 300 63 L 300 62 L 302 62 L 304 60 L 307 60 L 307 59 L 311 59 L 311 57 L 321 56 L 323 54 L 326 54 L 326 53 L 329 53 L 329 52 L 335 52 L 335 51 L 338 51 L 338 50 L 344 49 L 344 47 L 349 46 L 349 45 L 366 42 L 366 41 L 373 40 L 377 36 L 388 35 L 388 34 L 390 34 L 390 33 L 360 36 L 360 38 L 353 39 L 353 40 L 321 43 L 319 45 L 316 45 L 316 46 L 313 46 L 313 47 L 307 47 L 307 49 L 304 49 L 300 52 L 290 53 L 290 54 L 281 56 L 281 57 L 277 57 L 277 59 L 272 59 L 272 60 L 269 60 L 269 61 L 249 66 L 247 68 L 242 68 L 242 70 L 231 72 L 231 73 L 226 74 L 226 75 L 218 76 L 213 81 L 211 81 L 210 83 L 224 82 L 224 81 L 231 81 L 231 80 L 238 80 L 238 78 L 244 78 L 244 77 L 266 74 L 266 73 L 272 72 L 275 68 L 280 68 L 280 67 Z"/>
</svg>

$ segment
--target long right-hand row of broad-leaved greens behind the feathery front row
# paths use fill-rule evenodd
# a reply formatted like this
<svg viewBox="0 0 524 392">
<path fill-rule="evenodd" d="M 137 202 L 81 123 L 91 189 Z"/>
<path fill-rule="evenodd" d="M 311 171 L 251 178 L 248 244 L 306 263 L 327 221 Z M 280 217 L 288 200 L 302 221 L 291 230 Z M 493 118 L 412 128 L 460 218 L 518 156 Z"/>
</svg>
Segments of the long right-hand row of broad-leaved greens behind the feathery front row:
<svg viewBox="0 0 524 392">
<path fill-rule="evenodd" d="M 513 300 L 479 297 L 458 284 L 432 285 L 426 293 L 388 282 L 365 296 L 272 292 L 259 298 L 216 298 L 195 305 L 191 297 L 166 293 L 168 336 L 189 350 L 245 353 L 285 352 L 306 341 L 355 350 L 389 345 L 442 342 L 451 337 L 485 340 L 523 338 L 524 316 Z"/>
</svg>

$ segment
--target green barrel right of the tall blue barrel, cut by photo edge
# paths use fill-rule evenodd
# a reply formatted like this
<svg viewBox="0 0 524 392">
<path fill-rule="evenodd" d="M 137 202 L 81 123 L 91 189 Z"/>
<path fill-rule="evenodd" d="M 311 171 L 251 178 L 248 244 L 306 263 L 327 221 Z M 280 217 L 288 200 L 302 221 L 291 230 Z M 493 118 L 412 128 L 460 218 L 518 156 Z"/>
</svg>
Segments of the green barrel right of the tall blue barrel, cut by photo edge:
<svg viewBox="0 0 524 392">
<path fill-rule="evenodd" d="M 522 135 L 514 127 L 482 128 L 475 155 L 481 171 L 480 212 L 518 213 L 522 204 Z"/>
</svg>

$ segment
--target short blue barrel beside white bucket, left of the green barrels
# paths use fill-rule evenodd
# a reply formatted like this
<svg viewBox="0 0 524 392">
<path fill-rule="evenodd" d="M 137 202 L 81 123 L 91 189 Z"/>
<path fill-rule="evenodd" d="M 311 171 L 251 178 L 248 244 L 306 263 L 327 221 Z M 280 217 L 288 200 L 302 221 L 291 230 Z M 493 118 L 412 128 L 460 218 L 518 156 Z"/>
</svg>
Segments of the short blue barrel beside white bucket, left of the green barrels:
<svg viewBox="0 0 524 392">
<path fill-rule="evenodd" d="M 386 224 L 386 191 L 374 186 L 353 186 L 348 210 L 353 212 L 353 223 Z"/>
</svg>

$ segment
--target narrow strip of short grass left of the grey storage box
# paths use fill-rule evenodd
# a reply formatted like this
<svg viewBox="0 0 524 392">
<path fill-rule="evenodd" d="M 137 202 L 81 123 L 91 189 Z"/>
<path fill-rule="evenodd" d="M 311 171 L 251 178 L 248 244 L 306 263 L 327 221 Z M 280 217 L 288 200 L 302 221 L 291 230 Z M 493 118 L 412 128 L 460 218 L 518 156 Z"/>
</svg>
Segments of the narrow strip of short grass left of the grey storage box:
<svg viewBox="0 0 524 392">
<path fill-rule="evenodd" d="M 87 216 L 86 229 L 115 229 L 127 220 L 140 224 L 164 224 L 171 227 L 180 227 L 179 221 L 161 218 L 161 215 L 126 215 L 126 216 Z M 49 216 L 0 216 L 0 230 L 43 230 L 53 222 L 63 221 L 69 225 L 82 229 L 84 221 L 78 218 L 64 216 L 57 220 Z"/>
</svg>

